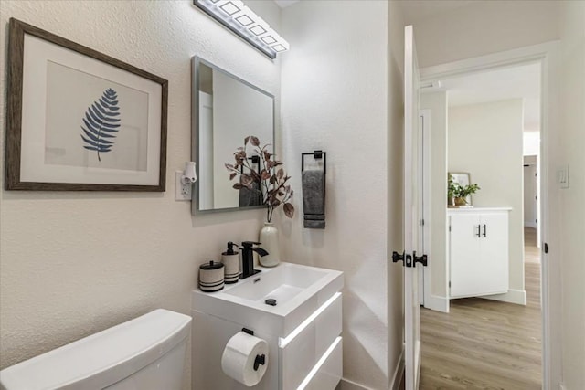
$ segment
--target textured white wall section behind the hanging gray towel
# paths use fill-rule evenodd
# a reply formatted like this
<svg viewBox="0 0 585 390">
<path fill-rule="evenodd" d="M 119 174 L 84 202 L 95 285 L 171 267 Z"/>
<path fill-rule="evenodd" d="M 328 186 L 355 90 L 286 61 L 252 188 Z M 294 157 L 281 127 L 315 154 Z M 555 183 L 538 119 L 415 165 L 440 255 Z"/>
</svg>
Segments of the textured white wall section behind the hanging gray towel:
<svg viewBox="0 0 585 390">
<path fill-rule="evenodd" d="M 388 3 L 300 2 L 282 11 L 282 36 L 293 47 L 282 58 L 283 158 L 299 205 L 281 223 L 284 253 L 345 272 L 344 378 L 387 388 L 388 343 L 401 343 L 401 327 L 388 329 L 388 300 L 400 297 L 388 297 L 387 216 L 401 219 L 388 195 Z M 327 153 L 324 230 L 303 228 L 300 204 L 301 153 L 316 149 Z"/>
</svg>

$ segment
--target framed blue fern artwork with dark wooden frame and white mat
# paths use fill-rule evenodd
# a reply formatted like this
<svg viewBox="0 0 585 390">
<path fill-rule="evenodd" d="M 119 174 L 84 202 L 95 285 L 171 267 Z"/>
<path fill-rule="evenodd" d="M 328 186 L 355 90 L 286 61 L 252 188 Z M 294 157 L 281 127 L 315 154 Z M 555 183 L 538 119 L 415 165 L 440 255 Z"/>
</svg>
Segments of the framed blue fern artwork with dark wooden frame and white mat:
<svg viewBox="0 0 585 390">
<path fill-rule="evenodd" d="M 168 82 L 14 18 L 7 190 L 165 191 Z"/>
</svg>

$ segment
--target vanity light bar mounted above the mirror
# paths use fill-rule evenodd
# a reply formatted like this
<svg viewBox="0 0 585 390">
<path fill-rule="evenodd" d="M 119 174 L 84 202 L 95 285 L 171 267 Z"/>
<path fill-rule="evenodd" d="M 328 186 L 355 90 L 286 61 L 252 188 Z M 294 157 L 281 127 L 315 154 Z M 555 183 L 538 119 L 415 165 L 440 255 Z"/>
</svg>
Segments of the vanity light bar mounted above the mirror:
<svg viewBox="0 0 585 390">
<path fill-rule="evenodd" d="M 207 15 L 270 58 L 289 49 L 289 43 L 240 0 L 193 0 Z"/>
</svg>

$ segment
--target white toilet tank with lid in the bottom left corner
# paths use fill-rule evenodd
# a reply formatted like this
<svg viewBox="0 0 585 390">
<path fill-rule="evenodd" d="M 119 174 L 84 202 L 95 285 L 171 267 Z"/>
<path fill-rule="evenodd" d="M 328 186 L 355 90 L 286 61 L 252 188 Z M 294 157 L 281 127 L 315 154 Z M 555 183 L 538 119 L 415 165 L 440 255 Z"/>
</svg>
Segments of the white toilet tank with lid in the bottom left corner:
<svg viewBox="0 0 585 390">
<path fill-rule="evenodd" d="M 0 371 L 3 390 L 180 390 L 191 317 L 158 309 Z"/>
</svg>

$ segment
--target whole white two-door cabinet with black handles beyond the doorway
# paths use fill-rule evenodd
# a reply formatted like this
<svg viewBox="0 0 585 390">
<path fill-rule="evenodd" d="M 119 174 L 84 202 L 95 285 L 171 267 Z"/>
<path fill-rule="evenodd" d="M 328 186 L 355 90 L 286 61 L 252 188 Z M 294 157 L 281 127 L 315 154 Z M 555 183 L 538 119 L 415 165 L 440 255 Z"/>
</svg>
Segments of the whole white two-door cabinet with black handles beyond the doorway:
<svg viewBox="0 0 585 390">
<path fill-rule="evenodd" d="M 509 211 L 449 209 L 450 298 L 507 292 Z"/>
</svg>

